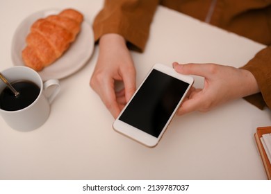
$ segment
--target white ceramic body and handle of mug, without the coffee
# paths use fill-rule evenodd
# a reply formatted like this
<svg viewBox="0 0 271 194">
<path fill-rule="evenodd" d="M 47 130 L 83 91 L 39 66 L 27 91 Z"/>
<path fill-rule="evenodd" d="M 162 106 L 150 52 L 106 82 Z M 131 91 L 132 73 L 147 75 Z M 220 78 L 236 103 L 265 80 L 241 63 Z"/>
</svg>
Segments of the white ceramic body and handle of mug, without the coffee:
<svg viewBox="0 0 271 194">
<path fill-rule="evenodd" d="M 0 114 L 10 127 L 19 131 L 35 130 L 47 121 L 50 114 L 50 104 L 60 91 L 58 80 L 42 82 L 40 75 L 29 67 L 10 67 L 1 72 L 8 82 L 28 80 L 40 87 L 40 93 L 31 105 L 15 111 L 7 111 L 0 108 Z M 0 94 L 6 84 L 0 81 Z"/>
</svg>

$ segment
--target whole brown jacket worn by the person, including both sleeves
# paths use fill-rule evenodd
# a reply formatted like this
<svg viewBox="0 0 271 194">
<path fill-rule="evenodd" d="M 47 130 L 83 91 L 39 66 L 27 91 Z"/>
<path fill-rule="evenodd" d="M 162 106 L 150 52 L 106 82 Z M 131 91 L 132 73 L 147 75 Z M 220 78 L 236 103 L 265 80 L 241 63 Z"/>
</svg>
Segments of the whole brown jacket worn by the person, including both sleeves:
<svg viewBox="0 0 271 194">
<path fill-rule="evenodd" d="M 271 108 L 271 0 L 106 0 L 95 18 L 95 40 L 118 33 L 144 51 L 158 4 L 267 45 L 245 64 L 261 93 L 245 99 L 257 107 Z"/>
</svg>

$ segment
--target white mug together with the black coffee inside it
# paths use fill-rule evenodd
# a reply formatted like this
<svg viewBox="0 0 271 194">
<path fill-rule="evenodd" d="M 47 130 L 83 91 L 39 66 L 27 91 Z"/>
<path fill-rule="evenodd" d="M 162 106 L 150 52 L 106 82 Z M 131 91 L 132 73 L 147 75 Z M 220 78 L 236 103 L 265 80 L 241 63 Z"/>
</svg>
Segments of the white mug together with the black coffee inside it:
<svg viewBox="0 0 271 194">
<path fill-rule="evenodd" d="M 24 66 L 10 67 L 1 73 L 19 90 L 19 96 L 8 96 L 10 91 L 0 81 L 0 114 L 4 121 L 14 130 L 24 132 L 43 125 L 49 117 L 50 105 L 60 91 L 59 81 L 51 79 L 43 83 L 36 71 Z"/>
</svg>

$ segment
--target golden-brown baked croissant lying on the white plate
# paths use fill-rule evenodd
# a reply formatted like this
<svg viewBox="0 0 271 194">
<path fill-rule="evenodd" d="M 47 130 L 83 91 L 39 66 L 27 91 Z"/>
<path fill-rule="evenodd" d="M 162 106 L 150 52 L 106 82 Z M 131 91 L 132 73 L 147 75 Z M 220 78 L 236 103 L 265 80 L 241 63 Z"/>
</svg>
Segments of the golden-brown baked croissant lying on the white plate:
<svg viewBox="0 0 271 194">
<path fill-rule="evenodd" d="M 83 15 L 73 9 L 35 21 L 22 51 L 26 66 L 41 71 L 60 58 L 76 39 L 82 21 Z"/>
</svg>

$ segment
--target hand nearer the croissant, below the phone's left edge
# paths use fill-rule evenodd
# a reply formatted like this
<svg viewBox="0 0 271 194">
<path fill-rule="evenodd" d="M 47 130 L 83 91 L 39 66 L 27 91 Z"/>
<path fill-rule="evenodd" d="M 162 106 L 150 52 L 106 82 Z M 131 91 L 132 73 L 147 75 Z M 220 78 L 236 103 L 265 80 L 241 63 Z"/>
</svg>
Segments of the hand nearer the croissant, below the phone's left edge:
<svg viewBox="0 0 271 194">
<path fill-rule="evenodd" d="M 124 83 L 124 89 L 115 91 L 115 82 Z M 136 91 L 136 69 L 125 39 L 117 34 L 106 34 L 99 40 L 99 57 L 90 86 L 116 118 Z"/>
</svg>

